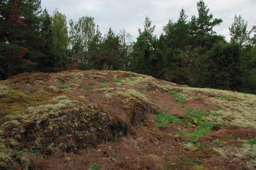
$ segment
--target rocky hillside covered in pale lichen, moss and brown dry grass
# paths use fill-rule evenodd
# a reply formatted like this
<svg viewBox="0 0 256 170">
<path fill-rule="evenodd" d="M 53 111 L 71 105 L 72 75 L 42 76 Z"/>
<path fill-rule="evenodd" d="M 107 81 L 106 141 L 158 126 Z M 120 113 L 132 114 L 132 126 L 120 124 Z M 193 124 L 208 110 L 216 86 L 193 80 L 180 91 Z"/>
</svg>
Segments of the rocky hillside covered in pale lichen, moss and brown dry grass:
<svg viewBox="0 0 256 170">
<path fill-rule="evenodd" d="M 0 81 L 0 169 L 255 169 L 256 96 L 122 71 Z"/>
</svg>

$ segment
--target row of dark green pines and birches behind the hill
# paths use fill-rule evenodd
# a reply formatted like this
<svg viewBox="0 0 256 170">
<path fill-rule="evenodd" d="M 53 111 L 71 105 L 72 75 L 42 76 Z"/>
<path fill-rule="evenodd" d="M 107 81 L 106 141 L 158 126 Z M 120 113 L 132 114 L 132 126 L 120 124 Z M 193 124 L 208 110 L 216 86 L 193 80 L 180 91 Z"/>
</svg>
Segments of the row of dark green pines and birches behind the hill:
<svg viewBox="0 0 256 170">
<path fill-rule="evenodd" d="M 227 41 L 203 0 L 190 19 L 184 9 L 159 38 L 146 17 L 136 41 L 125 30 L 102 35 L 94 18 L 50 15 L 41 0 L 0 0 L 0 79 L 66 69 L 126 70 L 193 87 L 256 93 L 256 27 L 235 15 Z"/>
</svg>

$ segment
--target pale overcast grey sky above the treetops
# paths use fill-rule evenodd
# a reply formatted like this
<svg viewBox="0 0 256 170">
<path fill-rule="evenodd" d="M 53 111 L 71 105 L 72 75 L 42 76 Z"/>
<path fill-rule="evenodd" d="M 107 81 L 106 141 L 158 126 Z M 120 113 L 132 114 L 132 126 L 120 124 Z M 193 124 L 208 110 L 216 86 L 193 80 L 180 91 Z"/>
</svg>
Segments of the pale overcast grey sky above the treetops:
<svg viewBox="0 0 256 170">
<path fill-rule="evenodd" d="M 145 17 L 148 16 L 156 26 L 155 34 L 163 32 L 163 26 L 171 19 L 176 21 L 183 8 L 189 19 L 197 16 L 197 0 L 41 0 L 42 8 L 47 8 L 50 14 L 55 8 L 75 21 L 82 16 L 92 16 L 102 34 L 109 27 L 115 33 L 125 29 L 135 40 L 138 28 L 143 28 Z M 229 41 L 228 27 L 234 16 L 241 15 L 248 21 L 251 29 L 256 22 L 256 0 L 205 0 L 214 18 L 222 18 L 223 23 L 215 27 L 218 34 L 226 36 Z"/>
</svg>

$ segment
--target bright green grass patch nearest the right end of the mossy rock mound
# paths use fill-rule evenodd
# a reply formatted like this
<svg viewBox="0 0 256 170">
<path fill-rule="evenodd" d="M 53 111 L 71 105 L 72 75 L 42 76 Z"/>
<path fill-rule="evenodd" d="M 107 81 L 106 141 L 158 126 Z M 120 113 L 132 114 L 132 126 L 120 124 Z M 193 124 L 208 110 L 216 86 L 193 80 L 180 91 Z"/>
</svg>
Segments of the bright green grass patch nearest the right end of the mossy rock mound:
<svg viewBox="0 0 256 170">
<path fill-rule="evenodd" d="M 176 118 L 172 114 L 159 113 L 155 120 L 158 127 L 171 126 L 171 123 L 182 124 L 183 120 Z"/>
</svg>

